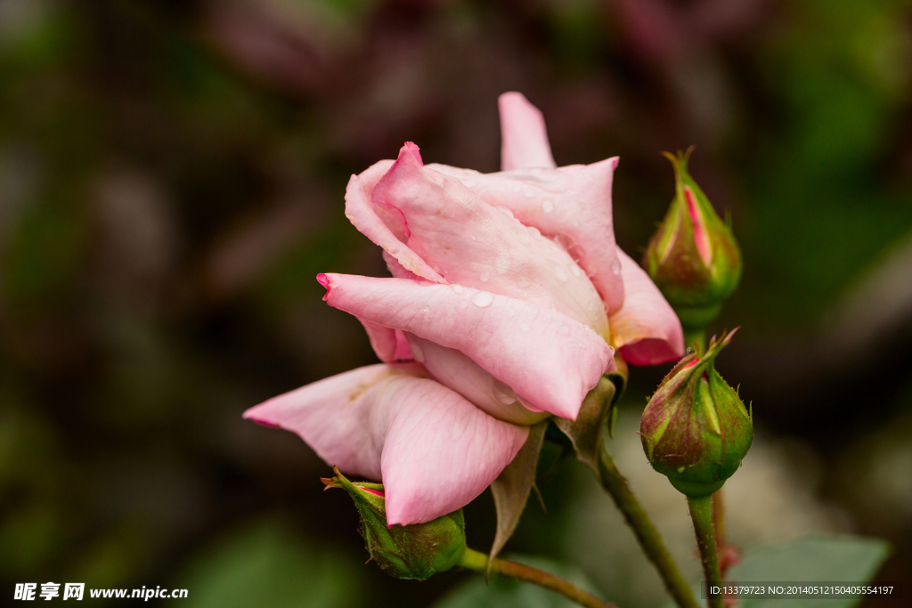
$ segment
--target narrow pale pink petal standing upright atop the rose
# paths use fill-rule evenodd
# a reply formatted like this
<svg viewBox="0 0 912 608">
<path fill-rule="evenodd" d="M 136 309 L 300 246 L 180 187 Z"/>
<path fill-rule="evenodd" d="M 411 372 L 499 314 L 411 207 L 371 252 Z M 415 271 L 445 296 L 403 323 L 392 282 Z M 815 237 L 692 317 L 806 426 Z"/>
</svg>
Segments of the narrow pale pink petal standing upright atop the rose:
<svg viewBox="0 0 912 608">
<path fill-rule="evenodd" d="M 522 93 L 504 93 L 497 99 L 501 111 L 501 169 L 553 168 L 542 112 Z"/>
</svg>

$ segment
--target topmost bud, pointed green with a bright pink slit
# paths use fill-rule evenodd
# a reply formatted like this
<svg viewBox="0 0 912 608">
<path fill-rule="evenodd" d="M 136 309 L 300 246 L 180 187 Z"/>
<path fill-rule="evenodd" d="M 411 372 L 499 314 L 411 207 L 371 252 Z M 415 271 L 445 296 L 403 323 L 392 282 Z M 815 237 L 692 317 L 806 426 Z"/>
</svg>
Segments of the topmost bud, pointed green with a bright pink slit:
<svg viewBox="0 0 912 608">
<path fill-rule="evenodd" d="M 649 241 L 644 265 L 686 331 L 702 331 L 741 279 L 741 251 L 731 227 L 690 177 L 690 152 L 672 156 L 675 199 Z"/>
</svg>

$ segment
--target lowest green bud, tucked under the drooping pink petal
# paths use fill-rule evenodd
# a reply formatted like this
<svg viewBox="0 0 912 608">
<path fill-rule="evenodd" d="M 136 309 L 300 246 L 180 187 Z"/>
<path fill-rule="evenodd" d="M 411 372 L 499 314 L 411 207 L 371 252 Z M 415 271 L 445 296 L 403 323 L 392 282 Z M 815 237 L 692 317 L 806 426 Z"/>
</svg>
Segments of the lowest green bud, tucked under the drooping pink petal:
<svg viewBox="0 0 912 608">
<path fill-rule="evenodd" d="M 353 483 L 338 469 L 336 477 L 323 479 L 330 488 L 348 492 L 361 514 L 361 536 L 380 570 L 398 579 L 423 581 L 446 572 L 465 552 L 462 510 L 409 526 L 387 525 L 386 498 L 379 483 Z"/>
</svg>

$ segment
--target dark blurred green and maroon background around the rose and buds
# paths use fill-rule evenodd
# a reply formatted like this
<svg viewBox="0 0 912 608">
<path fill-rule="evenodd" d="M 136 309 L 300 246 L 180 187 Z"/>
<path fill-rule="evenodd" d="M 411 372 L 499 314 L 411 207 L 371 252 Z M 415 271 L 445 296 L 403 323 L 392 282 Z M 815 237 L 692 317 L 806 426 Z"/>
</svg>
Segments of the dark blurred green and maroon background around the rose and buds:
<svg viewBox="0 0 912 608">
<path fill-rule="evenodd" d="M 891 541 L 912 583 L 912 3 L 891 0 L 0 0 L 0 587 L 182 586 L 186 606 L 427 606 L 471 575 L 365 565 L 329 469 L 246 407 L 373 363 L 318 272 L 383 275 L 347 176 L 405 140 L 498 169 L 497 96 L 558 164 L 620 155 L 638 257 L 663 149 L 740 239 L 720 372 L 757 439 L 727 485 L 743 546 Z M 687 510 L 636 435 L 612 451 L 672 551 Z M 658 578 L 591 476 L 544 481 L 508 550 L 622 606 Z M 492 500 L 466 511 L 473 546 Z M 868 601 L 866 606 L 897 605 Z"/>
</svg>

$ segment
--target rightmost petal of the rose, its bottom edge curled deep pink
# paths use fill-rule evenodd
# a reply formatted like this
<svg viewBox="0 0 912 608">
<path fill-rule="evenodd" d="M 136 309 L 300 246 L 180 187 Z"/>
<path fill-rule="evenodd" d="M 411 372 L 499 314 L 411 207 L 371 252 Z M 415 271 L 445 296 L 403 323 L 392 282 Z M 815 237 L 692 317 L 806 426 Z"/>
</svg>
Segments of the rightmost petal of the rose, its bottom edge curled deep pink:
<svg viewBox="0 0 912 608">
<path fill-rule="evenodd" d="M 627 295 L 624 306 L 609 320 L 621 355 L 635 366 L 655 366 L 684 356 L 678 315 L 639 264 L 620 248 L 617 257 Z"/>
</svg>

